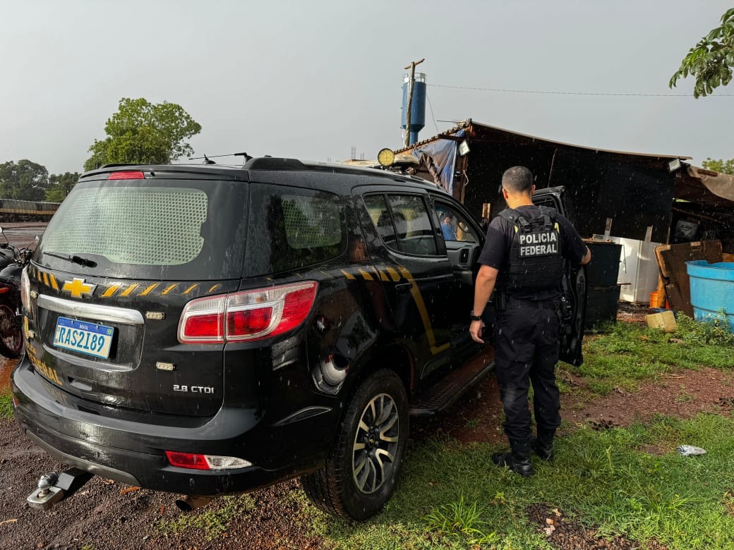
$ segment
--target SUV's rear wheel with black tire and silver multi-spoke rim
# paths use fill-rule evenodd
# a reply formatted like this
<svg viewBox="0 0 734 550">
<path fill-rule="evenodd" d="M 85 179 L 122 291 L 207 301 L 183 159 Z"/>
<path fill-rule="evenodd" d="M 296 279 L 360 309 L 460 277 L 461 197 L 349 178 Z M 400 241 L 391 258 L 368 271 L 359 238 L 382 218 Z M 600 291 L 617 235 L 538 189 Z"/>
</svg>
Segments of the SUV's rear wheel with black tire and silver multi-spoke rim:
<svg viewBox="0 0 734 550">
<path fill-rule="evenodd" d="M 369 375 L 349 400 L 326 463 L 301 477 L 308 498 L 335 516 L 374 516 L 395 490 L 408 427 L 400 377 L 386 369 Z"/>
</svg>

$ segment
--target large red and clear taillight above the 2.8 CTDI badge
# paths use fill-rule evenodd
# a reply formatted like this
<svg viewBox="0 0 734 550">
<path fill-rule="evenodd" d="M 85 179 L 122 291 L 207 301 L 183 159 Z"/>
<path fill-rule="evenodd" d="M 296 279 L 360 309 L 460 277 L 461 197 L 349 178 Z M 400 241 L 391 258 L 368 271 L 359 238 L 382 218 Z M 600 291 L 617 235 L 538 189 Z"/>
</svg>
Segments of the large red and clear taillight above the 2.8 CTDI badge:
<svg viewBox="0 0 734 550">
<path fill-rule="evenodd" d="M 215 344 L 261 340 L 299 326 L 313 306 L 316 281 L 192 300 L 181 313 L 178 341 Z"/>
</svg>

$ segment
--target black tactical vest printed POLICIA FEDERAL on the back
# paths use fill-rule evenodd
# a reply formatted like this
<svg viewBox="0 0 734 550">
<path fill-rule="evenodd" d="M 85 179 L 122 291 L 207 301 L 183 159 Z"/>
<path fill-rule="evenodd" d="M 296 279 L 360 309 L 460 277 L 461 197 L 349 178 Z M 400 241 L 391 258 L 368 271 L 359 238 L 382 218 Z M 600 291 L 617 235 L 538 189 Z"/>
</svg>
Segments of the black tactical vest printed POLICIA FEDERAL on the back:
<svg viewBox="0 0 734 550">
<path fill-rule="evenodd" d="M 511 208 L 499 215 L 511 221 L 515 229 L 502 277 L 503 290 L 512 295 L 558 288 L 563 257 L 556 210 L 540 206 L 538 215 L 530 219 Z"/>
</svg>

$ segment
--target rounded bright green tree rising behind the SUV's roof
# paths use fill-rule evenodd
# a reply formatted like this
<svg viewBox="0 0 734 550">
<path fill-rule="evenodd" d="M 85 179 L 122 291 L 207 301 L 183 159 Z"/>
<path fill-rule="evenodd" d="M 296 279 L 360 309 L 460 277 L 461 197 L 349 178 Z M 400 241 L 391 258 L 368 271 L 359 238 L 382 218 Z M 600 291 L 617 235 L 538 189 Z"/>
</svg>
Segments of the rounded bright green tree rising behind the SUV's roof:
<svg viewBox="0 0 734 550">
<path fill-rule="evenodd" d="M 192 155 L 184 140 L 199 133 L 201 125 L 176 103 L 122 98 L 104 131 L 107 137 L 89 148 L 85 170 L 107 163 L 167 164 Z"/>
</svg>

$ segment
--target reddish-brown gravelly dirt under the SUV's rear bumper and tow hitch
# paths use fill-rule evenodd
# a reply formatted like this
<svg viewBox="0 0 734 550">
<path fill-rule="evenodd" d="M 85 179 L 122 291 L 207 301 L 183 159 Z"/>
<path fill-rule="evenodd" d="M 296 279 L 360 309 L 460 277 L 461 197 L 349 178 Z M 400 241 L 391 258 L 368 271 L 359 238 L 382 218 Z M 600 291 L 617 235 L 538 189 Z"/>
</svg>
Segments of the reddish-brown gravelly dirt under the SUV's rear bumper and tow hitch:
<svg viewBox="0 0 734 550">
<path fill-rule="evenodd" d="M 172 494 L 92 477 L 81 490 L 48 512 L 26 506 L 40 474 L 65 465 L 35 447 L 14 421 L 0 420 L 0 546 L 17 549 L 316 549 L 324 540 L 307 535 L 299 483 L 280 483 L 251 494 L 252 510 L 230 518 L 226 532 L 208 540 L 206 528 L 178 534 L 159 528 L 181 518 Z M 127 490 L 127 491 L 126 491 Z M 286 504 L 284 504 L 286 503 Z M 226 505 L 219 499 L 200 511 Z M 194 514 L 199 513 L 199 510 Z M 305 520 L 304 520 L 305 521 Z"/>
</svg>

